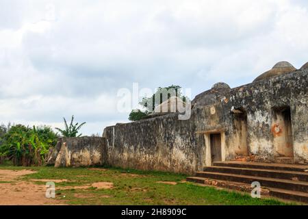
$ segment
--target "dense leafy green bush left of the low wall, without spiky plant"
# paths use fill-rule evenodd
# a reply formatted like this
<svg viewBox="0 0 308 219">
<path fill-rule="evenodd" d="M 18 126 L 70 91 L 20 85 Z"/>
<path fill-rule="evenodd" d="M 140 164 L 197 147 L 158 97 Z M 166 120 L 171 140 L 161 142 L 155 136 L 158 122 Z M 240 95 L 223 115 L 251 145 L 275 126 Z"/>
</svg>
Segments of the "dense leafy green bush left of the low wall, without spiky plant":
<svg viewBox="0 0 308 219">
<path fill-rule="evenodd" d="M 57 134 L 50 127 L 14 125 L 1 138 L 0 156 L 16 166 L 41 166 L 49 148 L 57 143 Z"/>
</svg>

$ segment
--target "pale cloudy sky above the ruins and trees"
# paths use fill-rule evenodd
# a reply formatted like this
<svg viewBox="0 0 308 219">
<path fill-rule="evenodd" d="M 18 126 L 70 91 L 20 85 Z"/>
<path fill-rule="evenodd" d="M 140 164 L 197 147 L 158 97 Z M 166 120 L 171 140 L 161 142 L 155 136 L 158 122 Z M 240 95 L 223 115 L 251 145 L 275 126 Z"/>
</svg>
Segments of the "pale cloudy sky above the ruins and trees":
<svg viewBox="0 0 308 219">
<path fill-rule="evenodd" d="M 0 0 L 0 123 L 127 122 L 120 88 L 192 97 L 308 61 L 306 0 Z"/>
</svg>

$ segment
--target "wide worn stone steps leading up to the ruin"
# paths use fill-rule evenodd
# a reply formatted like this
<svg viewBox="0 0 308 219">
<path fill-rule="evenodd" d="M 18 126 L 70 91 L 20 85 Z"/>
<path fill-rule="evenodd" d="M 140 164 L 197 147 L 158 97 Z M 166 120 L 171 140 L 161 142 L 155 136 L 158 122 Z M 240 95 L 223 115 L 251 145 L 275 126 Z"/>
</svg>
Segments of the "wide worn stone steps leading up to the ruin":
<svg viewBox="0 0 308 219">
<path fill-rule="evenodd" d="M 219 181 L 222 186 L 240 183 L 246 188 L 258 181 L 269 190 L 270 196 L 308 203 L 308 165 L 214 162 L 214 166 L 196 172 L 187 181 L 207 184 L 209 179 Z"/>
</svg>

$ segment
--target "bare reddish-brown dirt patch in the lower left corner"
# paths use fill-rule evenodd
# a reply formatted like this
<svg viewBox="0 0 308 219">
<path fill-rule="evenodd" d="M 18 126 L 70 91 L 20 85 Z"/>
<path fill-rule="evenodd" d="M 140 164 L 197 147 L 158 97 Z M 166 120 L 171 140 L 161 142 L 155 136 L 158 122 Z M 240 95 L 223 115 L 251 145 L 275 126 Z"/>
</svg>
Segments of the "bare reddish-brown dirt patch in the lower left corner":
<svg viewBox="0 0 308 219">
<path fill-rule="evenodd" d="M 62 205 L 55 198 L 46 198 L 45 185 L 18 180 L 34 173 L 31 170 L 0 170 L 0 205 Z"/>
</svg>

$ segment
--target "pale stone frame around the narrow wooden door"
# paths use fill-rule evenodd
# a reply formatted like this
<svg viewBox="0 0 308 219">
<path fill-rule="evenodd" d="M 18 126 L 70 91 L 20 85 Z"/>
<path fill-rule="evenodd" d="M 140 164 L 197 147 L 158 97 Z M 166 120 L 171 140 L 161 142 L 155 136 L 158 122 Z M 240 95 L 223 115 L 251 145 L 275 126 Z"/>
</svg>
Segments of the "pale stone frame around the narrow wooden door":
<svg viewBox="0 0 308 219">
<path fill-rule="evenodd" d="M 226 161 L 226 146 L 225 146 L 225 134 L 224 129 L 214 129 L 209 131 L 204 131 L 204 140 L 205 140 L 205 166 L 213 166 L 211 160 L 211 134 L 220 134 L 221 138 L 221 160 L 222 162 Z"/>
</svg>

